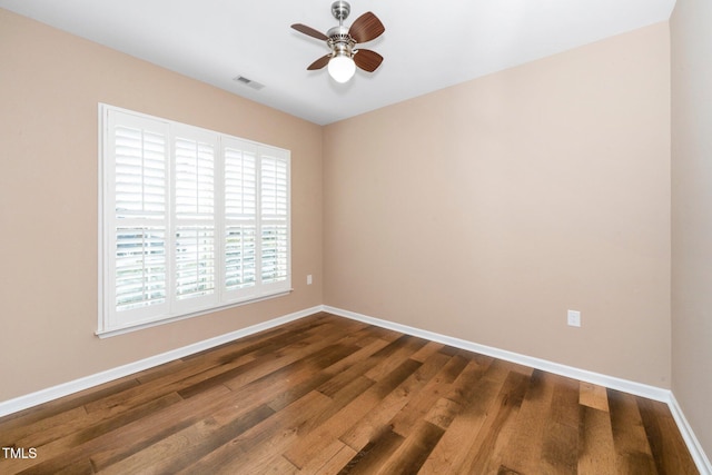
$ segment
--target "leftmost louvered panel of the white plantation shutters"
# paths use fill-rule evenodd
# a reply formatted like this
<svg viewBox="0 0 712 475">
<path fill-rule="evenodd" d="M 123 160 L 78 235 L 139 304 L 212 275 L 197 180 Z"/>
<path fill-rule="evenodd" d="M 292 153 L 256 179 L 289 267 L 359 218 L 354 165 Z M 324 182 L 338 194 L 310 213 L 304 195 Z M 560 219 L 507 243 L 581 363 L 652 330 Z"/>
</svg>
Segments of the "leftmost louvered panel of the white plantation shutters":
<svg viewBox="0 0 712 475">
<path fill-rule="evenodd" d="M 168 125 L 111 111 L 103 164 L 105 324 L 168 311 Z"/>
</svg>

